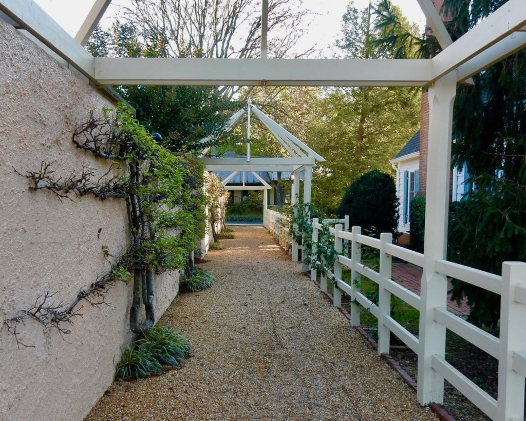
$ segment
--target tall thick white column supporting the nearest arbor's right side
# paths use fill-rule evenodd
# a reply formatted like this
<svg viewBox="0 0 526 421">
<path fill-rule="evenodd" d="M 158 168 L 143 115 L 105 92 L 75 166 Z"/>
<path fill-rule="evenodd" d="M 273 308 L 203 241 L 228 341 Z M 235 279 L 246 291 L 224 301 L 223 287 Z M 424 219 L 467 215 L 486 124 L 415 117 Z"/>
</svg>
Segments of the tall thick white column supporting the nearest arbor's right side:
<svg viewBox="0 0 526 421">
<path fill-rule="evenodd" d="M 435 262 L 446 258 L 451 172 L 451 126 L 457 90 L 456 72 L 429 88 L 429 140 L 427 155 L 426 227 L 421 280 L 417 397 L 422 405 L 441 404 L 444 378 L 431 368 L 433 354 L 444 357 L 446 328 L 434 321 L 433 308 L 447 306 L 446 276 Z"/>
</svg>

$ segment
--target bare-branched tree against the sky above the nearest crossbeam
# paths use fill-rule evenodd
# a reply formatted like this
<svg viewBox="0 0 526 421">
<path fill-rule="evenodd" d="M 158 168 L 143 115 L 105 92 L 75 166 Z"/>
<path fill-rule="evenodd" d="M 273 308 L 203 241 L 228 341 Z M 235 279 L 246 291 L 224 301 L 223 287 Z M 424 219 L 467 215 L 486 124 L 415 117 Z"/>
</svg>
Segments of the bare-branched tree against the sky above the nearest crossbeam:
<svg viewBox="0 0 526 421">
<path fill-rule="evenodd" d="M 132 0 L 126 22 L 148 39 L 166 41 L 166 57 L 257 58 L 261 51 L 258 0 Z M 268 2 L 268 57 L 283 58 L 304 33 L 308 11 L 290 0 Z M 309 54 L 308 49 L 294 58 Z M 232 98 L 240 87 L 222 87 Z"/>
</svg>

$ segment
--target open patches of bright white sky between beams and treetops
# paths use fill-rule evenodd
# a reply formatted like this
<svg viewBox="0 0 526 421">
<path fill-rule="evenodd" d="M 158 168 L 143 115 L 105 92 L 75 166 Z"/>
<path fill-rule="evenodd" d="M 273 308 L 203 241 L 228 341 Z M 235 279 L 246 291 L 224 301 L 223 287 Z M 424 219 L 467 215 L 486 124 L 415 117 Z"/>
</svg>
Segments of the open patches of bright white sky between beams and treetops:
<svg viewBox="0 0 526 421">
<path fill-rule="evenodd" d="M 84 17 L 93 5 L 92 1 L 78 0 L 34 0 L 41 6 L 59 25 L 75 36 L 78 28 L 82 25 Z M 421 31 L 425 26 L 425 19 L 417 0 L 391 0 L 391 2 L 402 9 L 402 13 L 411 23 L 420 26 Z M 115 5 L 113 4 L 115 3 Z M 112 5 L 106 10 L 103 19 L 108 19 L 118 13 L 118 4 L 127 3 L 127 0 L 113 0 Z M 303 5 L 313 10 L 318 15 L 308 26 L 308 33 L 304 36 L 300 47 L 310 47 L 317 44 L 319 48 L 329 50 L 340 34 L 340 22 L 345 13 L 348 0 L 304 0 Z M 322 6 L 320 6 L 322 4 Z M 362 9 L 367 7 L 369 0 L 354 0 L 355 7 Z"/>
</svg>

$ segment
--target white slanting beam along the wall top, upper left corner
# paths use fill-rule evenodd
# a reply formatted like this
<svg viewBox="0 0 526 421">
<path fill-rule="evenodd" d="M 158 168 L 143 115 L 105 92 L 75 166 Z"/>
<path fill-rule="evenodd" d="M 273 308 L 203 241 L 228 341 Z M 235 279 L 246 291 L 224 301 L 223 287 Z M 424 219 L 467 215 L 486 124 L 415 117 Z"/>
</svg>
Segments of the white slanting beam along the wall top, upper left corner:
<svg viewBox="0 0 526 421">
<path fill-rule="evenodd" d="M 31 0 L 0 0 L 0 11 L 93 80 L 94 58 Z"/>
</svg>

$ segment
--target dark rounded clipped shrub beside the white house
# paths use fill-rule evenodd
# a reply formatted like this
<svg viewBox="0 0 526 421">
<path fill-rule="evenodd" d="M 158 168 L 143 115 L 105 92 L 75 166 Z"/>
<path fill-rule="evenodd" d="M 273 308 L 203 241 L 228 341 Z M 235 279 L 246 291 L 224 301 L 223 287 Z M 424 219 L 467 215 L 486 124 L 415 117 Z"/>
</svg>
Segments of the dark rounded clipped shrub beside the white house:
<svg viewBox="0 0 526 421">
<path fill-rule="evenodd" d="M 398 198 L 392 177 L 373 170 L 357 178 L 343 194 L 336 215 L 339 218 L 349 215 L 350 226 L 362 227 L 366 235 L 394 234 L 398 225 Z"/>
</svg>

